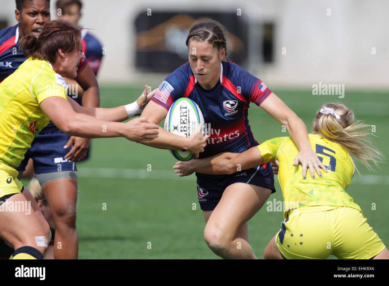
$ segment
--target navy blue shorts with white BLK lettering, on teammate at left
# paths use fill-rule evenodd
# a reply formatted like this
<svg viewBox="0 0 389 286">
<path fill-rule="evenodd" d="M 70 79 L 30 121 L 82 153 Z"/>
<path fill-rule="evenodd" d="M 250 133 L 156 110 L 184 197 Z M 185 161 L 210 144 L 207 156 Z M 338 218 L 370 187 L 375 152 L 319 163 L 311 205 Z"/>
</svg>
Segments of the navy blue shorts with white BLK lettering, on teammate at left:
<svg viewBox="0 0 389 286">
<path fill-rule="evenodd" d="M 36 174 L 57 172 L 59 170 L 77 171 L 75 163 L 64 159 L 65 155 L 72 149 L 72 146 L 67 149 L 63 148 L 69 138 L 70 135 L 63 133 L 61 130 L 39 133 L 34 138 L 30 149 L 28 149 L 25 154 L 24 160 L 21 161 L 16 170 L 24 171 L 28 159 L 32 158 Z"/>
</svg>

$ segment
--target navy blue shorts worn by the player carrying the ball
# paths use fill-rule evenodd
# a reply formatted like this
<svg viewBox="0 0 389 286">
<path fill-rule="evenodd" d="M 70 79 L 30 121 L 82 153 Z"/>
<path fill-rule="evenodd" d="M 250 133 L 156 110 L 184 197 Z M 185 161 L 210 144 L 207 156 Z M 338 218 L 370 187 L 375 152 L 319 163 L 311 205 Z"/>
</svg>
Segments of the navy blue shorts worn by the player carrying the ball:
<svg viewBox="0 0 389 286">
<path fill-rule="evenodd" d="M 264 164 L 265 165 L 265 164 Z M 275 193 L 274 174 L 270 162 L 242 170 L 231 175 L 197 174 L 197 196 L 202 211 L 213 211 L 219 203 L 224 190 L 234 183 L 246 183 L 271 189 Z"/>
</svg>

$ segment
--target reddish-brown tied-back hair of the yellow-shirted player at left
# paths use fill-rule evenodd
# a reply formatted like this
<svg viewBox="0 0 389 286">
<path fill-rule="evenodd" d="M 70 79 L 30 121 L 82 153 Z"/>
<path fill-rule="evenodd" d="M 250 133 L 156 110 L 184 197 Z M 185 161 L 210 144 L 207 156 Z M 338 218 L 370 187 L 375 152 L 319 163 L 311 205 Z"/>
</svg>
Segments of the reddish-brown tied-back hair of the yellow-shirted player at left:
<svg viewBox="0 0 389 286">
<path fill-rule="evenodd" d="M 28 58 L 46 60 L 54 63 L 58 49 L 64 53 L 81 49 L 81 32 L 70 22 L 53 20 L 42 29 L 39 37 L 26 35 L 20 39 L 19 50 Z"/>
</svg>

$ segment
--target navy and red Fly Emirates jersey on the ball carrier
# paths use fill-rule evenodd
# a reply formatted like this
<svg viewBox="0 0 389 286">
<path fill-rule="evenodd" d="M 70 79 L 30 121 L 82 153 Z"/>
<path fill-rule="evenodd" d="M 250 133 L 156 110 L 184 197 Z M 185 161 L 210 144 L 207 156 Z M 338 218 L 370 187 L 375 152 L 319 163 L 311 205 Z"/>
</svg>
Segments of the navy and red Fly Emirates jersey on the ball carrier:
<svg viewBox="0 0 389 286">
<path fill-rule="evenodd" d="M 270 93 L 264 82 L 228 61 L 221 62 L 216 86 L 204 89 L 188 62 L 166 77 L 152 101 L 166 110 L 180 97 L 196 102 L 209 135 L 205 151 L 200 153 L 200 158 L 206 158 L 221 152 L 242 153 L 258 145 L 247 118 L 249 104 L 261 105 Z"/>
</svg>

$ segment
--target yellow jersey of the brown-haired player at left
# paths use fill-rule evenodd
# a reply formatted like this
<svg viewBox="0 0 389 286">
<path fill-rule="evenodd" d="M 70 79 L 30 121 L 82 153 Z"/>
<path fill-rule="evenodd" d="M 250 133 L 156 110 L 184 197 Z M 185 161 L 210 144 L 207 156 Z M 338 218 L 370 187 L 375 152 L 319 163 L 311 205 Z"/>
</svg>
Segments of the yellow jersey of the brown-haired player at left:
<svg viewBox="0 0 389 286">
<path fill-rule="evenodd" d="M 48 97 L 67 98 L 66 88 L 49 62 L 32 58 L 0 83 L 0 169 L 18 174 L 14 168 L 50 121 L 39 104 Z"/>
</svg>

